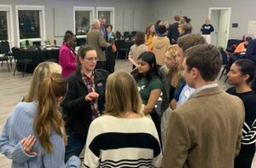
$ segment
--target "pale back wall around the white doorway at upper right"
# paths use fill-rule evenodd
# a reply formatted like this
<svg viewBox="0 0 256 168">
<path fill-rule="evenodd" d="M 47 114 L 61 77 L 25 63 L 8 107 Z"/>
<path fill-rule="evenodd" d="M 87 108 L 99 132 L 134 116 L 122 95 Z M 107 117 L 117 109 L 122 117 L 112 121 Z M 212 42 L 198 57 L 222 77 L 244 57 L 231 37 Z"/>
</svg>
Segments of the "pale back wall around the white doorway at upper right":
<svg viewBox="0 0 256 168">
<path fill-rule="evenodd" d="M 159 0 L 153 1 L 150 5 L 152 14 L 149 20 L 171 21 L 175 14 L 187 15 L 191 18 L 193 32 L 200 32 L 201 25 L 208 17 L 209 8 L 230 7 L 230 21 L 239 25 L 237 28 L 230 27 L 230 38 L 242 38 L 243 35 L 247 35 L 248 20 L 256 20 L 256 1 L 254 0 L 246 2 L 240 0 Z"/>
</svg>

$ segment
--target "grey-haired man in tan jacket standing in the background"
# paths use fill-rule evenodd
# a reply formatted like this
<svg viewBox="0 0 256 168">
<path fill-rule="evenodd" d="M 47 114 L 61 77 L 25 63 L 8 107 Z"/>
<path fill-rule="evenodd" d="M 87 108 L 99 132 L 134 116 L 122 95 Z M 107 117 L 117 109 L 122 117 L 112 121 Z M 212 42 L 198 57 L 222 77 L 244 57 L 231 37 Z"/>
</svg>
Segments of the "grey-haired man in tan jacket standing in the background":
<svg viewBox="0 0 256 168">
<path fill-rule="evenodd" d="M 91 23 L 91 29 L 86 34 L 86 43 L 92 45 L 96 49 L 98 61 L 96 64 L 96 69 L 102 68 L 105 69 L 106 67 L 106 55 L 105 50 L 102 48 L 107 48 L 110 46 L 110 43 L 107 43 L 102 36 L 102 32 L 100 32 L 100 21 L 93 20 Z"/>
</svg>

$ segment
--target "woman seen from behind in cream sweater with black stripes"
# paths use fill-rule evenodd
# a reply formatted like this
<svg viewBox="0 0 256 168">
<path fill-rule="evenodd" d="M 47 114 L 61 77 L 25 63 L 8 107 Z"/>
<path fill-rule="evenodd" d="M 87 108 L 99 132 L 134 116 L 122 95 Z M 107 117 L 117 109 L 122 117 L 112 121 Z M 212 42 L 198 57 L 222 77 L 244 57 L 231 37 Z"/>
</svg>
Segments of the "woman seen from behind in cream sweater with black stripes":
<svg viewBox="0 0 256 168">
<path fill-rule="evenodd" d="M 159 137 L 141 107 L 134 78 L 127 72 L 109 75 L 106 111 L 90 125 L 85 167 L 160 167 Z"/>
</svg>

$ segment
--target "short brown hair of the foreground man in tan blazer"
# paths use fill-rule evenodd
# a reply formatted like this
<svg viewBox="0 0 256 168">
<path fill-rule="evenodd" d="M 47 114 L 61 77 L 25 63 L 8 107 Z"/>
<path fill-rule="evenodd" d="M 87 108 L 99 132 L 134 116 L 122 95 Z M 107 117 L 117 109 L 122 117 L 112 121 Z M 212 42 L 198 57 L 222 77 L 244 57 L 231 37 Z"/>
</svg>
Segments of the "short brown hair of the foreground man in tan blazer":
<svg viewBox="0 0 256 168">
<path fill-rule="evenodd" d="M 197 68 L 201 78 L 205 81 L 213 81 L 218 77 L 222 66 L 222 56 L 217 47 L 212 44 L 199 44 L 185 51 L 186 65 L 190 71 Z"/>
</svg>

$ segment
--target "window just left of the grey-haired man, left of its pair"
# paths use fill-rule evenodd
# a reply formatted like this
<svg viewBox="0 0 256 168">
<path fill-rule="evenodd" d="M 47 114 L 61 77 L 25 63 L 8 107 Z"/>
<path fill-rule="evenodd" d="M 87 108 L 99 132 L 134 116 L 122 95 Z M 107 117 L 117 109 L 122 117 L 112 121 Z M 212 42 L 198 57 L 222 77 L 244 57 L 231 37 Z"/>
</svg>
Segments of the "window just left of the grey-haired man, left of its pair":
<svg viewBox="0 0 256 168">
<path fill-rule="evenodd" d="M 84 38 L 89 31 L 90 22 L 94 19 L 93 7 L 74 7 L 74 32 L 78 38 Z"/>
</svg>

